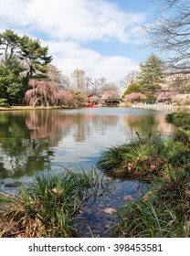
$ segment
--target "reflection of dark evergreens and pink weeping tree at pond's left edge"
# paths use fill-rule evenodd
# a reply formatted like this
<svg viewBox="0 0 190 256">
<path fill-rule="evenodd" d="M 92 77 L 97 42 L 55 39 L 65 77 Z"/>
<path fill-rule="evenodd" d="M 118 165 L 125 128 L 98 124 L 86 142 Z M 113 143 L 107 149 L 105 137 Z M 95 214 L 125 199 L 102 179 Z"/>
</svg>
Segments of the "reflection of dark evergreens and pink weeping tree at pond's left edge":
<svg viewBox="0 0 190 256">
<path fill-rule="evenodd" d="M 69 116 L 54 112 L 0 114 L 0 177 L 32 176 L 49 169 L 58 141 L 68 133 Z"/>
</svg>

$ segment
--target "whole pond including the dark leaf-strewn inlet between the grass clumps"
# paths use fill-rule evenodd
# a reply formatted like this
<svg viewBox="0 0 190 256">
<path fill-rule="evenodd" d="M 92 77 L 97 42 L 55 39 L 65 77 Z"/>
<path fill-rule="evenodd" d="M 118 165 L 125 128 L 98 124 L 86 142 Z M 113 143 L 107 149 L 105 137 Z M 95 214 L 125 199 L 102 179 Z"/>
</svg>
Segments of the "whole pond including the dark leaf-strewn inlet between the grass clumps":
<svg viewBox="0 0 190 256">
<path fill-rule="evenodd" d="M 119 107 L 0 112 L 0 190 L 16 193 L 37 173 L 89 171 L 102 152 L 131 142 L 136 132 L 142 138 L 169 134 L 173 125 L 165 122 L 165 113 Z M 106 230 L 115 221 L 113 209 L 141 195 L 144 187 L 132 180 L 111 180 L 110 190 L 81 210 L 83 224 L 76 223 L 80 235 L 108 236 Z"/>
</svg>

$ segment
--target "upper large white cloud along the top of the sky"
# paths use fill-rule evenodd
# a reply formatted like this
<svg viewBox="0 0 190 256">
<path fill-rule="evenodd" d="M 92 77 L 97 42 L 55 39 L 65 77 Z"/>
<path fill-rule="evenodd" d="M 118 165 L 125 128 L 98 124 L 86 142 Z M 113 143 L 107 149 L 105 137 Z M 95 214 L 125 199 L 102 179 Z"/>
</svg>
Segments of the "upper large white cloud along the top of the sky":
<svg viewBox="0 0 190 256">
<path fill-rule="evenodd" d="M 101 0 L 0 0 L 0 6 L 0 16 L 7 23 L 40 29 L 64 40 L 117 38 L 128 42 L 136 24 L 144 19 L 142 14 L 124 13 Z"/>
</svg>

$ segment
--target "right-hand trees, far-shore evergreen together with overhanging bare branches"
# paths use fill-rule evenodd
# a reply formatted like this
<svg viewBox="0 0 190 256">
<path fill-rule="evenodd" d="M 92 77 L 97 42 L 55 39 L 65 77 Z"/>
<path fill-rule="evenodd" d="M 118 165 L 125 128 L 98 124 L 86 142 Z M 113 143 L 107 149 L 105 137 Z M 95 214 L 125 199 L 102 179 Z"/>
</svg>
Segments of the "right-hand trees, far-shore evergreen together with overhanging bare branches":
<svg viewBox="0 0 190 256">
<path fill-rule="evenodd" d="M 124 95 L 143 93 L 148 100 L 190 93 L 190 1 L 149 0 L 156 6 L 154 21 L 144 27 L 148 47 L 159 53 L 122 80 Z M 162 98 L 163 97 L 163 98 Z"/>
</svg>

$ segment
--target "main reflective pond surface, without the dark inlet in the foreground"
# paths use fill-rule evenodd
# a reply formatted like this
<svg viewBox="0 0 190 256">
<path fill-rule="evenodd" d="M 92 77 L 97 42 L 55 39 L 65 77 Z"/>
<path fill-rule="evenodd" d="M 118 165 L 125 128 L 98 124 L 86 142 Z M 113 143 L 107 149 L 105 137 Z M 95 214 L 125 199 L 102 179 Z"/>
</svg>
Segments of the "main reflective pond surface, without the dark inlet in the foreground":
<svg viewBox="0 0 190 256">
<path fill-rule="evenodd" d="M 102 151 L 140 134 L 171 132 L 164 113 L 102 108 L 0 112 L 0 178 L 56 169 L 89 168 Z"/>
</svg>

